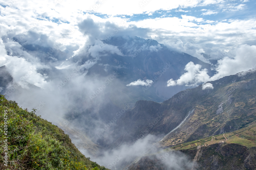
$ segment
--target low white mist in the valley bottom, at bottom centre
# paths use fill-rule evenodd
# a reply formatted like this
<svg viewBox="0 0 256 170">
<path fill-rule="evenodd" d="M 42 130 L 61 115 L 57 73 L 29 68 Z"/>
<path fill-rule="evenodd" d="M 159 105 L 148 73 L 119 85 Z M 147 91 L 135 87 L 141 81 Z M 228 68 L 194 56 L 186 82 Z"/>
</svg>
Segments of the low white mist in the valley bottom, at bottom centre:
<svg viewBox="0 0 256 170">
<path fill-rule="evenodd" d="M 106 168 L 123 169 L 127 164 L 132 165 L 132 162 L 136 159 L 140 163 L 140 159 L 154 154 L 159 160 L 158 162 L 155 162 L 155 159 L 152 160 L 152 164 L 155 164 L 155 166 L 164 166 L 167 169 L 192 167 L 191 161 L 184 154 L 180 152 L 160 151 L 156 144 L 157 141 L 159 141 L 158 137 L 149 134 L 144 138 L 138 139 L 133 144 L 123 144 L 113 150 L 104 152 L 102 156 L 93 158 L 92 160 L 104 165 Z M 148 159 L 150 158 L 149 156 Z M 148 166 L 147 168 L 150 167 Z"/>
</svg>

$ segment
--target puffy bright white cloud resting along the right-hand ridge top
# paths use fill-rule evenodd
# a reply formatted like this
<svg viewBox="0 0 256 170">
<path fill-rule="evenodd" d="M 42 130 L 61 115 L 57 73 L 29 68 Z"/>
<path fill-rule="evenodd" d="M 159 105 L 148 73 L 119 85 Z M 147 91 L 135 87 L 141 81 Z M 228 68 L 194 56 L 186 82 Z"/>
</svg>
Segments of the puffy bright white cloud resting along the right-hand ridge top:
<svg viewBox="0 0 256 170">
<path fill-rule="evenodd" d="M 228 54 L 228 53 L 227 53 Z M 201 65 L 189 62 L 185 66 L 183 75 L 178 80 L 170 79 L 167 81 L 167 86 L 183 85 L 196 86 L 207 81 L 214 81 L 224 76 L 237 74 L 242 71 L 252 69 L 256 64 L 256 46 L 255 45 L 240 45 L 235 50 L 235 57 L 224 57 L 218 60 L 215 68 L 216 74 L 210 77 L 206 69 L 201 69 Z M 205 87 L 210 87 L 209 84 Z"/>
</svg>

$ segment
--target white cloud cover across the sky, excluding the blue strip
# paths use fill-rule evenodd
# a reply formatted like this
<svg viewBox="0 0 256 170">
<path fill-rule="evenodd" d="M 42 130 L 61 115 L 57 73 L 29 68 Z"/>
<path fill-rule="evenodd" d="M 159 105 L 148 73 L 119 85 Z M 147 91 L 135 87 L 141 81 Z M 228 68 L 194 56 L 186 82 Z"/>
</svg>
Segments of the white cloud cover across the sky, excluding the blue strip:
<svg viewBox="0 0 256 170">
<path fill-rule="evenodd" d="M 244 4 L 236 3 L 227 5 L 227 3 L 224 3 L 224 1 L 221 0 L 178 2 L 148 1 L 141 7 L 140 3 L 143 3 L 143 1 L 138 2 L 135 0 L 124 2 L 126 3 L 125 5 L 123 5 L 123 2 L 121 3 L 119 1 L 102 1 L 101 4 L 98 4 L 99 1 L 56 1 L 57 3 L 49 1 L 44 4 L 40 4 L 38 1 L 28 2 L 30 4 L 29 6 L 27 6 L 27 2 L 25 1 L 15 1 L 12 3 L 10 3 L 10 1 L 5 1 L 2 2 L 2 4 L 9 6 L 5 8 L 0 6 L 0 35 L 1 37 L 6 37 L 5 42 L 1 41 L 2 44 L 4 44 L 4 48 L 0 49 L 0 51 L 4 50 L 4 52 L 1 53 L 2 57 L 0 58 L 2 64 L 7 62 L 5 60 L 10 59 L 6 55 L 6 48 L 8 54 L 12 56 L 22 54 L 16 58 L 14 57 L 12 60 L 15 61 L 13 62 L 18 62 L 20 60 L 19 57 L 24 58 L 26 63 L 29 64 L 29 67 L 30 65 L 35 67 L 34 71 L 44 67 L 50 67 L 40 61 L 42 59 L 40 58 L 41 54 L 32 54 L 31 51 L 28 54 L 26 51 L 23 51 L 22 46 L 18 42 L 13 41 L 13 37 L 16 37 L 18 41 L 23 43 L 23 45 L 39 45 L 45 48 L 50 47 L 60 50 L 62 52 L 70 51 L 67 58 L 79 54 L 85 56 L 91 54 L 93 57 L 101 57 L 102 52 L 118 55 L 122 55 L 122 53 L 115 46 L 104 45 L 101 41 L 93 42 L 92 37 L 101 40 L 106 36 L 110 36 L 112 32 L 114 35 L 121 35 L 126 32 L 127 34 L 132 34 L 132 36 L 153 38 L 159 43 L 165 44 L 167 47 L 183 51 L 205 62 L 207 62 L 207 60 L 200 53 L 206 53 L 212 58 L 218 59 L 218 73 L 211 79 L 217 79 L 222 75 L 227 75 L 231 72 L 250 69 L 245 63 L 242 64 L 243 67 L 238 66 L 237 70 L 232 68 L 230 68 L 230 70 L 225 70 L 224 67 L 227 67 L 226 62 L 234 62 L 234 64 L 236 64 L 235 61 L 238 61 L 239 56 L 236 55 L 239 53 L 236 49 L 246 48 L 246 46 L 241 46 L 242 44 L 251 45 L 255 42 L 256 30 L 254 28 L 256 19 L 254 18 L 244 20 L 229 19 L 217 22 L 205 20 L 204 18 L 182 15 L 182 18 L 152 18 L 129 22 L 127 18 L 124 20 L 119 17 L 111 16 L 115 14 L 129 14 L 130 16 L 133 16 L 133 14 L 141 14 L 145 12 L 146 14 L 154 14 L 153 12 L 157 9 L 171 10 L 179 8 L 179 11 L 183 11 L 183 7 L 195 6 L 204 6 L 204 9 L 201 11 L 215 12 L 207 11 L 207 5 L 209 4 L 218 4 L 219 8 L 223 10 L 242 10 L 246 8 L 246 5 Z M 246 1 L 243 1 L 242 3 L 244 2 Z M 107 17 L 100 18 L 93 14 L 85 14 L 83 12 L 91 11 L 97 4 L 98 7 L 97 9 L 94 9 L 94 11 L 108 14 Z M 137 4 L 137 6 L 135 7 L 134 4 Z M 165 5 L 163 6 L 163 4 Z M 67 6 L 69 8 L 66 8 Z M 133 6 L 134 8 L 129 8 L 129 6 Z M 88 34 L 85 34 L 84 30 L 81 31 L 78 25 L 88 18 L 93 20 L 97 30 L 95 29 L 88 32 Z M 59 22 L 52 22 L 53 20 L 59 20 Z M 116 26 L 120 29 L 118 30 L 118 33 L 113 31 Z M 93 36 L 91 37 L 89 34 L 93 34 Z M 249 51 L 253 51 L 251 50 L 252 48 L 253 46 L 250 47 Z M 159 48 L 151 46 L 148 49 L 157 51 Z M 228 51 L 228 53 L 223 55 L 222 51 Z M 248 56 L 251 55 L 251 52 L 248 53 Z M 69 64 L 62 67 L 59 66 L 62 61 L 57 56 L 46 55 L 45 57 L 52 59 L 52 63 L 49 63 L 52 64 L 52 67 L 64 69 L 64 66 L 66 66 L 65 69 L 68 69 Z M 67 58 L 64 59 L 66 60 Z M 35 65 L 34 63 L 37 64 Z M 93 63 L 95 63 L 95 61 Z M 89 64 L 88 67 L 89 66 L 91 65 Z M 201 70 L 199 69 L 199 73 L 200 71 Z M 13 74 L 16 73 L 18 72 L 13 72 Z M 45 83 L 44 77 L 47 76 L 40 75 L 39 73 L 35 75 L 39 76 L 38 78 L 35 78 L 35 80 L 40 79 L 41 81 L 39 82 L 42 84 Z M 14 75 L 14 77 L 16 76 Z M 20 75 L 17 75 L 17 77 L 20 77 Z M 30 82 L 33 81 L 30 80 Z M 33 83 L 36 82 L 38 84 L 38 81 Z"/>
</svg>

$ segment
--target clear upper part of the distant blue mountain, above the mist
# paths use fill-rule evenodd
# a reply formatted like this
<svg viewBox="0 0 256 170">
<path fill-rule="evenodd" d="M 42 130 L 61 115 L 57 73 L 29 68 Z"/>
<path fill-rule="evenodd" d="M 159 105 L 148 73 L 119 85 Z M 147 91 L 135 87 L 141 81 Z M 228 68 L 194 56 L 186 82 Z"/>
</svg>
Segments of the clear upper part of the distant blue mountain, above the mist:
<svg viewBox="0 0 256 170">
<path fill-rule="evenodd" d="M 87 76 L 110 75 L 116 71 L 118 79 L 122 81 L 121 84 L 123 86 L 138 79 L 149 79 L 154 82 L 151 87 L 126 87 L 127 90 L 131 91 L 129 95 L 134 96 L 133 98 L 140 98 L 141 100 L 144 98 L 158 102 L 163 101 L 163 99 L 169 99 L 177 92 L 186 89 L 185 85 L 166 87 L 166 82 L 169 79 L 176 80 L 184 74 L 184 68 L 189 62 L 200 64 L 203 69 L 208 70 L 210 76 L 215 73 L 211 69 L 213 67 L 211 64 L 204 63 L 186 53 L 172 51 L 155 40 L 145 40 L 140 37 L 113 36 L 108 41 L 101 40 L 101 42 L 102 44 L 95 43 L 92 47 L 99 46 L 99 48 L 103 48 L 106 45 L 111 45 L 111 47 L 117 47 L 123 55 L 105 54 L 97 64 L 88 69 Z M 88 59 L 93 58 L 91 55 L 87 60 L 84 59 L 83 55 L 74 56 L 72 59 L 73 62 L 81 61 L 81 64 L 84 64 Z M 133 91 L 135 94 L 132 93 Z"/>
</svg>

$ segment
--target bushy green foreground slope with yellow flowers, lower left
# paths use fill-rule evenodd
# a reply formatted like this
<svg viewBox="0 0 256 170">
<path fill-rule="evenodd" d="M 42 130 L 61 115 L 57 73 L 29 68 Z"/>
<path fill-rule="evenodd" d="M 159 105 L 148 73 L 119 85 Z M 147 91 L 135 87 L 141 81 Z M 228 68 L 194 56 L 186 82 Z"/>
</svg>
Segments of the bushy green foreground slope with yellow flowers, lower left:
<svg viewBox="0 0 256 170">
<path fill-rule="evenodd" d="M 63 130 L 35 112 L 0 95 L 0 169 L 106 169 L 82 155 Z"/>
</svg>

